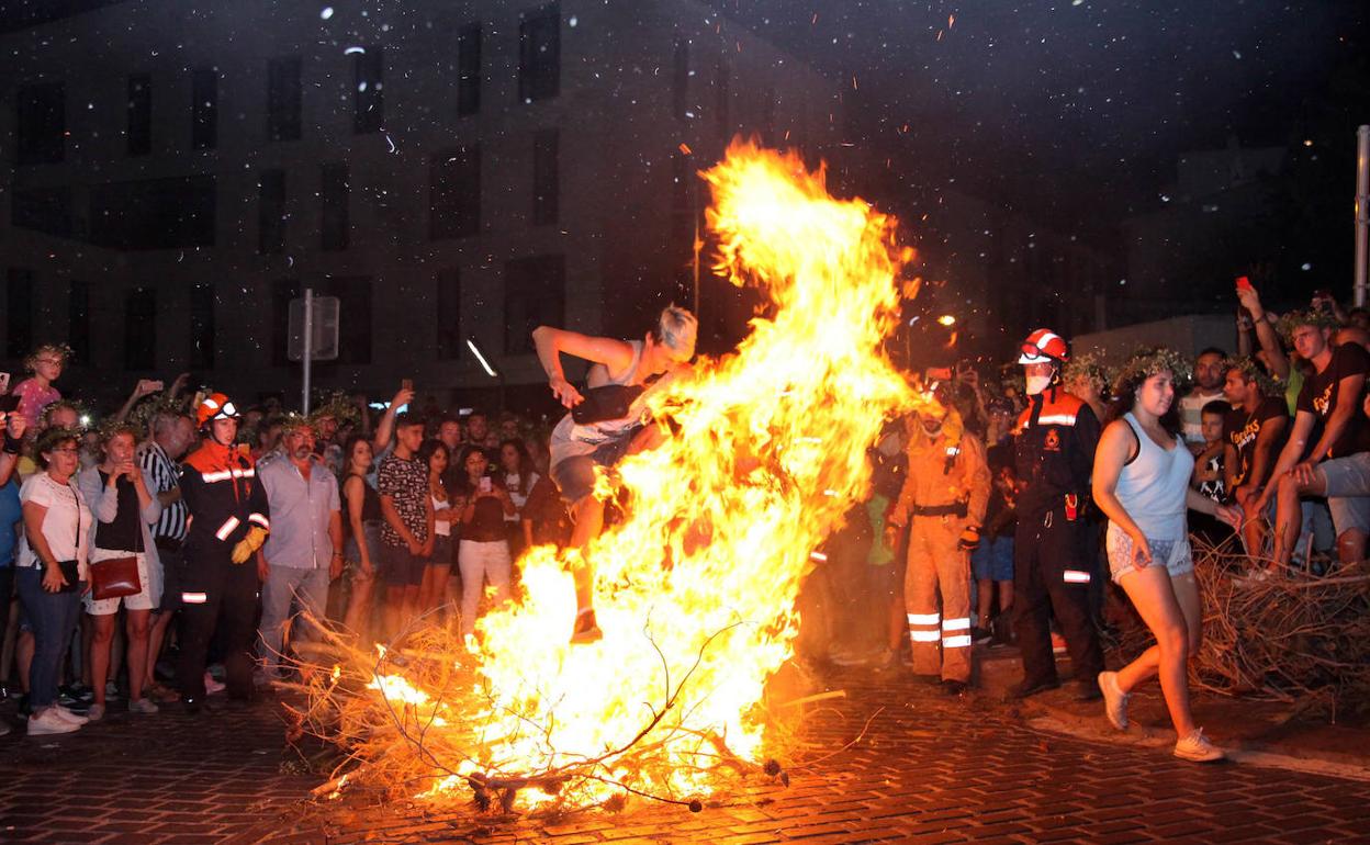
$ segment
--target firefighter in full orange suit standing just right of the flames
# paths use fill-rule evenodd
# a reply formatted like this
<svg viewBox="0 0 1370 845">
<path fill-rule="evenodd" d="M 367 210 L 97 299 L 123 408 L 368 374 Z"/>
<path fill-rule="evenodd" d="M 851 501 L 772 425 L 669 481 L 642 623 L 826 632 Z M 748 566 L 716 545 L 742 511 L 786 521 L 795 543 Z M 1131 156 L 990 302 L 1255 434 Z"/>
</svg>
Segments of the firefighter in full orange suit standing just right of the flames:
<svg viewBox="0 0 1370 845">
<path fill-rule="evenodd" d="M 945 407 L 918 414 L 908 474 L 888 519 L 889 545 L 911 523 L 904 609 L 914 672 L 959 696 L 970 682 L 970 552 L 989 501 L 985 446 Z M 941 593 L 941 612 L 937 596 Z"/>
</svg>

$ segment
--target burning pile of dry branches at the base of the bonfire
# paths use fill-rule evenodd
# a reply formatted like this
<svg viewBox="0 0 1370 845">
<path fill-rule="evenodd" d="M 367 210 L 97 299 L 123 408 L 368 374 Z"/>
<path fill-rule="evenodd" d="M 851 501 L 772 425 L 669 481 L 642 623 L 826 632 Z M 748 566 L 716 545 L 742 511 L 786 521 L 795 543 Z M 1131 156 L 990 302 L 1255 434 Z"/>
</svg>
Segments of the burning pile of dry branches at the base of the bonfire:
<svg viewBox="0 0 1370 845">
<path fill-rule="evenodd" d="M 636 797 L 699 812 L 697 794 L 674 794 L 662 786 L 670 771 L 659 752 L 667 744 L 678 749 L 682 740 L 692 744 L 699 771 L 711 779 L 789 782 L 774 759 L 752 763 L 733 753 L 725 737 L 682 723 L 678 698 L 690 683 L 689 672 L 667 682 L 662 701 L 644 703 L 641 730 L 621 746 L 560 757 L 538 771 L 511 771 L 489 755 L 495 744 L 482 730 L 492 723 L 497 696 L 484 688 L 475 657 L 459 634 L 444 626 L 415 626 L 374 651 L 358 648 L 337 631 L 326 630 L 323 637 L 297 655 L 301 681 L 293 686 L 304 704 L 285 705 L 292 741 L 308 734 L 341 753 L 341 759 L 333 756 L 327 781 L 314 790 L 318 797 L 336 797 L 344 789 L 382 800 L 422 796 L 471 801 L 495 814 L 512 812 L 516 798 L 536 798 L 521 800 L 521 808 L 532 804 L 540 812 L 560 814 L 621 809 Z M 519 718 L 533 737 L 552 733 L 532 712 Z M 669 766 L 680 770 L 678 755 Z M 608 797 L 603 785 L 611 787 Z"/>
</svg>

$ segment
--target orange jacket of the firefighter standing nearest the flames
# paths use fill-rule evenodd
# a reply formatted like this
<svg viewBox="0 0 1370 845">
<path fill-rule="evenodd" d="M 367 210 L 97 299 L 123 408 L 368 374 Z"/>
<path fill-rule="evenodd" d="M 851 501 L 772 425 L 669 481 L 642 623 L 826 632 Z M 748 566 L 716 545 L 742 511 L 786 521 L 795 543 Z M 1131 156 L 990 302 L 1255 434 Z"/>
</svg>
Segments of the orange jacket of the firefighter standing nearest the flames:
<svg viewBox="0 0 1370 845">
<path fill-rule="evenodd" d="M 904 525 L 921 509 L 943 511 L 975 526 L 989 504 L 989 462 L 974 434 L 927 437 L 917 430 L 908 442 L 908 474 L 891 512 L 892 525 Z"/>
</svg>

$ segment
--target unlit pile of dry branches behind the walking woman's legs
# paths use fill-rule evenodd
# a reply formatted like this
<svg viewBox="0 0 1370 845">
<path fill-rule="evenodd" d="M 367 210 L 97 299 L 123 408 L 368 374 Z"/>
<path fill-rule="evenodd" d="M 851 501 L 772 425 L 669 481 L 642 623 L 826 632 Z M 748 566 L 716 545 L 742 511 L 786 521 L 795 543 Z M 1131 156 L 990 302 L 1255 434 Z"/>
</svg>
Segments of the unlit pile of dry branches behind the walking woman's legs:
<svg viewBox="0 0 1370 845">
<path fill-rule="evenodd" d="M 1191 683 L 1223 696 L 1274 701 L 1321 700 L 1334 709 L 1370 701 L 1370 566 L 1329 575 L 1288 568 L 1281 577 L 1245 578 L 1252 562 L 1232 542 L 1193 537 L 1195 575 L 1203 593 L 1203 648 Z M 1123 637 L 1136 653 L 1140 633 Z"/>
</svg>

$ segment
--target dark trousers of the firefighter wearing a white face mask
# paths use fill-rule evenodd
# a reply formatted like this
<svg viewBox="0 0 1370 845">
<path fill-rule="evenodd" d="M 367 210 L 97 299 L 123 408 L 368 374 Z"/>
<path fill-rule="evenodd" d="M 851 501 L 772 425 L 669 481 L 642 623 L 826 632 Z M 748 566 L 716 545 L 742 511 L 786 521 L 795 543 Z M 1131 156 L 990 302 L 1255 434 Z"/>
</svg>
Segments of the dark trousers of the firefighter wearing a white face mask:
<svg viewBox="0 0 1370 845">
<path fill-rule="evenodd" d="M 1055 683 L 1051 616 L 1066 638 L 1077 681 L 1093 683 L 1104 668 L 1099 631 L 1089 615 L 1095 551 L 1084 520 L 1066 519 L 1064 505 L 1037 516 L 1019 516 L 1014 535 L 1014 630 L 1029 686 Z"/>
</svg>

